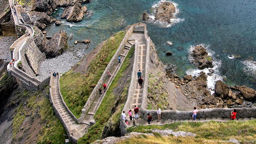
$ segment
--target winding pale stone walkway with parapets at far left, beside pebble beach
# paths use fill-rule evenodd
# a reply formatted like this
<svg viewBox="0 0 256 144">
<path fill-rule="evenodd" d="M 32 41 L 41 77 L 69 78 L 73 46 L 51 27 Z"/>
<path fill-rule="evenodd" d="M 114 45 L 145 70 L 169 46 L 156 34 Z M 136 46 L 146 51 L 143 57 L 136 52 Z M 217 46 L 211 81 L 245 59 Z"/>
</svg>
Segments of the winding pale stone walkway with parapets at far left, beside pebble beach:
<svg viewBox="0 0 256 144">
<path fill-rule="evenodd" d="M 14 1 L 13 0 L 9 0 L 9 5 L 10 5 L 10 8 L 12 9 L 12 6 L 14 8 L 14 10 L 16 11 L 16 7 L 14 5 Z M 10 65 L 8 64 L 7 65 L 7 70 L 8 71 L 12 71 L 10 73 L 12 73 L 13 75 L 15 76 L 18 76 L 18 78 L 22 79 L 23 81 L 26 81 L 26 82 L 29 82 L 31 84 L 34 84 L 34 86 L 37 88 L 38 85 L 41 83 L 40 80 L 36 79 L 35 77 L 32 77 L 30 75 L 28 75 L 27 73 L 21 71 L 18 67 L 17 67 L 17 64 L 21 61 L 21 50 L 23 48 L 23 46 L 25 45 L 25 43 L 27 43 L 27 40 L 29 38 L 33 38 L 34 37 L 34 30 L 32 28 L 31 25 L 29 24 L 24 24 L 24 23 L 19 23 L 19 17 L 18 17 L 18 14 L 14 15 L 14 11 L 11 10 L 12 12 L 12 16 L 14 18 L 14 22 L 15 22 L 15 25 L 18 25 L 18 26 L 26 26 L 26 33 L 30 33 L 30 37 L 28 37 L 26 34 L 22 35 L 20 38 L 18 38 L 12 45 L 10 48 L 14 49 L 13 50 L 13 53 L 17 53 L 17 50 L 18 50 L 18 60 L 15 61 L 14 63 L 14 68 L 11 69 Z M 17 12 L 17 11 L 16 11 Z M 17 22 L 18 20 L 18 22 Z M 16 43 L 18 43 L 21 39 L 25 38 L 25 37 L 28 37 L 25 39 L 25 41 L 22 43 L 22 45 L 20 46 L 20 48 L 15 48 L 15 45 Z M 13 54 L 13 56 L 14 56 Z"/>
</svg>

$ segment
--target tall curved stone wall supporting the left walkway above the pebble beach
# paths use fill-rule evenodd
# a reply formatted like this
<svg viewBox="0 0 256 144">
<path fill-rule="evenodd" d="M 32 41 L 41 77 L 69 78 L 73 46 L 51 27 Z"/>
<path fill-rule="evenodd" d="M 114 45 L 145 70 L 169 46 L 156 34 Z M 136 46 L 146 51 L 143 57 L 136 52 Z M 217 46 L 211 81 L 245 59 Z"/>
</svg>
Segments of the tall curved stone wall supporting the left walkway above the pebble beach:
<svg viewBox="0 0 256 144">
<path fill-rule="evenodd" d="M 45 54 L 37 48 L 33 37 L 27 38 L 27 40 L 23 43 L 21 60 L 26 73 L 33 77 L 35 74 L 38 74 L 39 64 L 45 60 Z"/>
</svg>

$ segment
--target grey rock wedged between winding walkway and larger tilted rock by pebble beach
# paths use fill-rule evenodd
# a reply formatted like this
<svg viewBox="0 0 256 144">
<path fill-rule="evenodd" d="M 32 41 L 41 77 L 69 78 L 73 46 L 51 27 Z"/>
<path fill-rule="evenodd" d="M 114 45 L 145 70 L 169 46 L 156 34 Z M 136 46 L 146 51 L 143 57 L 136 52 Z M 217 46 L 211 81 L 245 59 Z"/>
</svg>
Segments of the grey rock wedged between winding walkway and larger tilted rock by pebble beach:
<svg viewBox="0 0 256 144">
<path fill-rule="evenodd" d="M 34 27 L 35 35 L 34 35 L 34 41 L 39 50 L 43 53 L 46 48 L 46 36 L 42 33 L 41 30 L 38 29 L 38 27 Z"/>
</svg>

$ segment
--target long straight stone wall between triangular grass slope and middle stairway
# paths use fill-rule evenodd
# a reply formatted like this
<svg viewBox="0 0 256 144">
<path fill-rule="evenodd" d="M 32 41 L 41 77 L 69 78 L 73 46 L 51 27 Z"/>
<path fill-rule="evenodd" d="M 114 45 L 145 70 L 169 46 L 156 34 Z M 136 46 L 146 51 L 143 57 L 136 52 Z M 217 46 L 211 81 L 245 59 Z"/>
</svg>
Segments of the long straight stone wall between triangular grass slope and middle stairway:
<svg viewBox="0 0 256 144">
<path fill-rule="evenodd" d="M 84 105 L 83 109 L 82 109 L 82 114 L 79 118 L 79 122 L 82 120 L 82 118 L 86 115 L 87 111 L 89 110 L 91 104 L 93 103 L 95 96 L 99 94 L 99 88 L 102 86 L 102 84 L 104 83 L 105 79 L 108 77 L 107 72 L 111 70 L 111 68 L 113 67 L 114 62 L 117 60 L 117 57 L 119 56 L 121 50 L 123 49 L 125 43 L 127 42 L 128 38 L 131 36 L 132 34 L 132 30 L 133 27 L 130 27 L 129 30 L 127 31 L 127 33 L 125 34 L 123 41 L 120 43 L 116 53 L 114 54 L 114 56 L 112 57 L 112 59 L 110 60 L 108 66 L 106 67 L 105 71 L 102 73 L 101 78 L 99 79 L 97 85 L 94 87 L 93 92 L 91 92 L 90 97 L 87 99 L 86 104 Z"/>
</svg>

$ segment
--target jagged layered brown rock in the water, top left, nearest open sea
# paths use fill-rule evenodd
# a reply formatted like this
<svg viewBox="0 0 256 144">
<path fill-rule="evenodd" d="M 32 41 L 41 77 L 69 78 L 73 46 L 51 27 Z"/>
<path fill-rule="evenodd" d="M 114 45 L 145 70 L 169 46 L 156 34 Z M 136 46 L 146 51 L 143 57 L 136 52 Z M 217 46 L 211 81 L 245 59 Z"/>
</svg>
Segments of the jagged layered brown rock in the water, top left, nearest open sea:
<svg viewBox="0 0 256 144">
<path fill-rule="evenodd" d="M 61 15 L 61 19 L 67 19 L 69 22 L 79 22 L 83 19 L 86 11 L 87 7 L 82 7 L 82 4 L 77 2 L 74 6 L 65 8 Z"/>
</svg>

